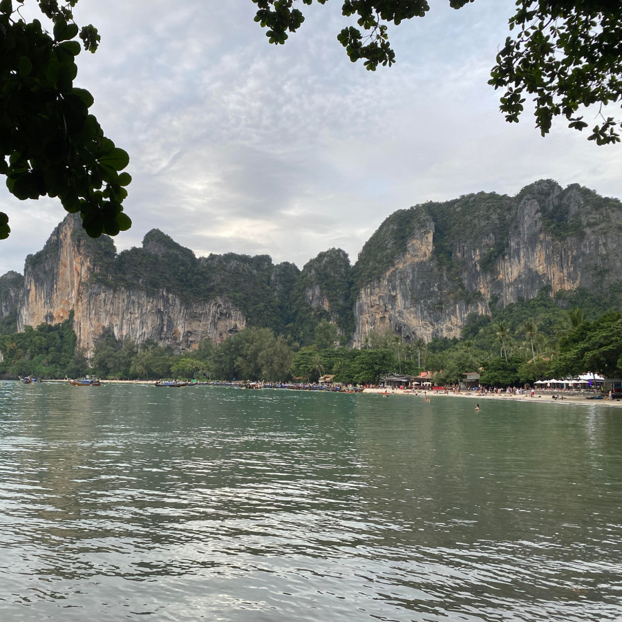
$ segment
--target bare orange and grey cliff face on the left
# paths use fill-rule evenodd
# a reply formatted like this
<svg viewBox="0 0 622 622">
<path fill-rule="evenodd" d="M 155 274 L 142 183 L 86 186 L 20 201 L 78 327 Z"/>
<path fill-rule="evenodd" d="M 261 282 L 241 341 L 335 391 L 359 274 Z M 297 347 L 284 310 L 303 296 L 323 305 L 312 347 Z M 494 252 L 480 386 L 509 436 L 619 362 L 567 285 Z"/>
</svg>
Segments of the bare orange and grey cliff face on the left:
<svg viewBox="0 0 622 622">
<path fill-rule="evenodd" d="M 76 226 L 77 225 L 77 226 Z M 160 256 L 153 255 L 153 263 Z M 245 327 L 246 319 L 226 296 L 188 302 L 166 288 L 149 291 L 113 283 L 109 239 L 91 241 L 73 216 L 53 232 L 44 249 L 29 256 L 18 303 L 19 330 L 59 323 L 74 312 L 78 345 L 92 352 L 104 330 L 117 339 L 153 339 L 176 351 L 196 348 L 202 339 L 223 341 Z"/>
</svg>

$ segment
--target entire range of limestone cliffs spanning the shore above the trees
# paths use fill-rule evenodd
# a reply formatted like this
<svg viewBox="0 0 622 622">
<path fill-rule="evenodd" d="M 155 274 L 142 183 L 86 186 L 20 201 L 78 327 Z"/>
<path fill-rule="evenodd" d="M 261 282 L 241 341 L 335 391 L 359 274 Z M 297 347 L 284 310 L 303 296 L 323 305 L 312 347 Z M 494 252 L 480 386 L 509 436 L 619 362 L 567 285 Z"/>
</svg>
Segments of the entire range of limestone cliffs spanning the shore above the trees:
<svg viewBox="0 0 622 622">
<path fill-rule="evenodd" d="M 353 267 L 341 249 L 302 271 L 267 255 L 196 258 L 157 229 L 117 254 L 111 238 L 91 240 L 80 225 L 68 216 L 28 256 L 23 277 L 0 277 L 0 319 L 23 330 L 73 311 L 87 353 L 106 331 L 180 352 L 247 325 L 305 345 L 322 320 L 355 347 L 379 331 L 428 341 L 459 337 L 469 315 L 543 288 L 622 291 L 622 203 L 551 180 L 515 197 L 481 192 L 399 210 Z"/>
</svg>

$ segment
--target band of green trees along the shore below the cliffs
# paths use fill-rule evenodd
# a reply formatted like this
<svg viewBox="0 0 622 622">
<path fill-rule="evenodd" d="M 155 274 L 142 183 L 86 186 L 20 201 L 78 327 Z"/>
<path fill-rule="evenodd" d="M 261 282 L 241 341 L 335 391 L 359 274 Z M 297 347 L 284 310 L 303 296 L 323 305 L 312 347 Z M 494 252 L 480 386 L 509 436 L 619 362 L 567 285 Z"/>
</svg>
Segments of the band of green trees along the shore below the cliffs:
<svg viewBox="0 0 622 622">
<path fill-rule="evenodd" d="M 137 346 L 106 333 L 88 360 L 76 346 L 73 313 L 63 323 L 23 332 L 0 326 L 0 375 L 41 378 L 94 375 L 103 379 L 218 379 L 314 382 L 324 374 L 348 384 L 375 384 L 390 373 L 433 373 L 437 384 L 457 384 L 479 372 L 487 386 L 519 386 L 585 372 L 622 375 L 622 314 L 574 306 L 563 310 L 549 290 L 529 301 L 471 314 L 460 339 L 402 339 L 370 332 L 360 349 L 339 345 L 338 329 L 323 320 L 309 346 L 270 328 L 246 328 L 223 343 L 205 339 L 178 355 L 146 341 Z"/>
</svg>

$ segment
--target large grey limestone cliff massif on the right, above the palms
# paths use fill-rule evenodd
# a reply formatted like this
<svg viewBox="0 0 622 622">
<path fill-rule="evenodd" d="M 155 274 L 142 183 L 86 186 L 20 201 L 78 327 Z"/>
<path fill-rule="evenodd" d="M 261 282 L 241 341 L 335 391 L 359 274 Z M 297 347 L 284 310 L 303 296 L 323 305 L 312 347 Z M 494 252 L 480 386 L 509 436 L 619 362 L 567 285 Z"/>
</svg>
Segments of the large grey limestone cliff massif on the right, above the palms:
<svg viewBox="0 0 622 622">
<path fill-rule="evenodd" d="M 489 314 L 491 304 L 533 298 L 543 288 L 552 295 L 603 291 L 622 276 L 621 229 L 618 200 L 552 181 L 513 198 L 480 193 L 402 210 L 370 238 L 355 266 L 354 344 L 372 330 L 406 341 L 459 337 L 469 313 Z M 390 258 L 387 238 L 397 239 Z"/>
</svg>

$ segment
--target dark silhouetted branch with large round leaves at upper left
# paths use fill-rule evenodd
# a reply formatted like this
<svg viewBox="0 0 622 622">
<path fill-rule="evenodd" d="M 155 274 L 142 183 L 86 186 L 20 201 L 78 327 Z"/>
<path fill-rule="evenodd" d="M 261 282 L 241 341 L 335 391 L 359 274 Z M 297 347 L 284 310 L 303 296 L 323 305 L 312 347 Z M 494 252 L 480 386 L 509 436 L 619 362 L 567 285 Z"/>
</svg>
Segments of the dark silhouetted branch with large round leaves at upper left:
<svg viewBox="0 0 622 622">
<path fill-rule="evenodd" d="M 120 172 L 129 156 L 89 113 L 91 93 L 73 86 L 75 57 L 82 46 L 95 52 L 100 36 L 73 22 L 77 0 L 38 1 L 51 33 L 37 19 L 23 21 L 21 3 L 0 2 L 0 173 L 18 199 L 59 197 L 89 236 L 114 236 L 131 226 L 122 207 L 131 176 Z M 0 212 L 0 239 L 9 232 Z"/>
</svg>

